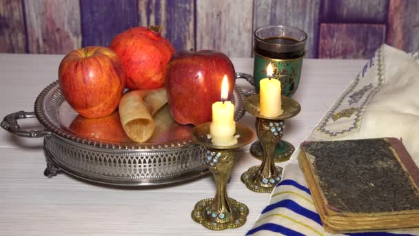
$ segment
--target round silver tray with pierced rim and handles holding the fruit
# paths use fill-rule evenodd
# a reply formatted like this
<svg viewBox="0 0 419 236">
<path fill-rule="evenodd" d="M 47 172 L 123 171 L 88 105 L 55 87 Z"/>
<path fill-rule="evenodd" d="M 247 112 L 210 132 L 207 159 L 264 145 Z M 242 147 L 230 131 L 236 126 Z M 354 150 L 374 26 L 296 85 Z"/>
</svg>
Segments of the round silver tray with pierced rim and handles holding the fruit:
<svg viewBox="0 0 419 236">
<path fill-rule="evenodd" d="M 237 73 L 238 78 L 251 76 Z M 236 105 L 234 119 L 243 117 L 244 94 L 234 89 L 232 102 Z M 160 137 L 146 144 L 132 141 L 110 141 L 84 137 L 70 128 L 77 113 L 65 101 L 58 81 L 51 83 L 37 97 L 34 112 L 15 112 L 7 115 L 1 127 L 23 137 L 44 137 L 43 149 L 47 161 L 45 176 L 65 173 L 102 184 L 147 186 L 171 184 L 194 179 L 208 172 L 205 168 L 205 148 L 194 141 L 192 126 L 174 125 Z M 34 118 L 45 130 L 21 130 L 17 119 Z M 178 135 L 181 129 L 181 135 Z"/>
</svg>

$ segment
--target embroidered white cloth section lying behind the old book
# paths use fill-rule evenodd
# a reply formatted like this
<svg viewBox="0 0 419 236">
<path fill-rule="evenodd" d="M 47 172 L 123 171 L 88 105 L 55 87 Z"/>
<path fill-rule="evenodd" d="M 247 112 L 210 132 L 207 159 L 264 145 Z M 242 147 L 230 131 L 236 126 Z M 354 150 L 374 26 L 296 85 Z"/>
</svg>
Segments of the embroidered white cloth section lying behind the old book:
<svg viewBox="0 0 419 236">
<path fill-rule="evenodd" d="M 383 45 L 312 132 L 310 139 L 396 137 L 419 165 L 419 51 Z M 370 66 L 372 65 L 372 66 Z M 356 110 L 349 117 L 337 112 Z"/>
</svg>

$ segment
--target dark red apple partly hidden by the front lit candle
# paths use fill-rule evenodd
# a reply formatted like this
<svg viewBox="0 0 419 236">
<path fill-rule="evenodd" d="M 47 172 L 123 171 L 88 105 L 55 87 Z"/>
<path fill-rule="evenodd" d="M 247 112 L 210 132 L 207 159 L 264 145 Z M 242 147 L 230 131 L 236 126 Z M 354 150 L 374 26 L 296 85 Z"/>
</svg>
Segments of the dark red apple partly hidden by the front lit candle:
<svg viewBox="0 0 419 236">
<path fill-rule="evenodd" d="M 221 52 L 182 50 L 166 70 L 170 112 L 180 124 L 195 126 L 212 120 L 212 104 L 221 101 L 221 82 L 227 75 L 228 99 L 236 81 L 232 61 Z"/>
</svg>

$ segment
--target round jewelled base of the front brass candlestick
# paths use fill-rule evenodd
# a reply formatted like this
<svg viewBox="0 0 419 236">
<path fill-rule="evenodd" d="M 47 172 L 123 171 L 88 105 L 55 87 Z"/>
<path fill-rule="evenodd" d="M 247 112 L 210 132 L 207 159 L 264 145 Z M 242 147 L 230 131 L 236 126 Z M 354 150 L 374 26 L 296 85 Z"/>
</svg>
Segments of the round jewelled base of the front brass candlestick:
<svg viewBox="0 0 419 236">
<path fill-rule="evenodd" d="M 192 219 L 210 230 L 225 230 L 227 228 L 238 228 L 246 223 L 249 208 L 245 204 L 232 198 L 228 198 L 231 212 L 212 210 L 214 199 L 208 198 L 198 201 L 192 211 Z"/>
</svg>

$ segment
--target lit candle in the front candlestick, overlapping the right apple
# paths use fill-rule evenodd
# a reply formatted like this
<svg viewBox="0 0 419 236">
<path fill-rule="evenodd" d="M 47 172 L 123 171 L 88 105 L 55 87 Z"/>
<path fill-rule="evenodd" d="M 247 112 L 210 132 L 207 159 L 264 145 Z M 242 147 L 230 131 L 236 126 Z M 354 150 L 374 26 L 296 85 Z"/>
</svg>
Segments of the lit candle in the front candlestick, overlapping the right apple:
<svg viewBox="0 0 419 236">
<path fill-rule="evenodd" d="M 225 101 L 228 97 L 227 75 L 223 78 L 221 86 L 221 100 L 212 104 L 212 122 L 210 134 L 212 143 L 216 146 L 232 146 L 237 144 L 236 122 L 234 121 L 234 105 Z"/>
</svg>

